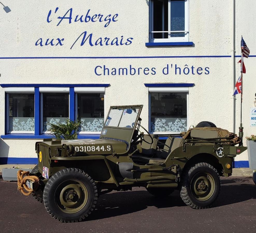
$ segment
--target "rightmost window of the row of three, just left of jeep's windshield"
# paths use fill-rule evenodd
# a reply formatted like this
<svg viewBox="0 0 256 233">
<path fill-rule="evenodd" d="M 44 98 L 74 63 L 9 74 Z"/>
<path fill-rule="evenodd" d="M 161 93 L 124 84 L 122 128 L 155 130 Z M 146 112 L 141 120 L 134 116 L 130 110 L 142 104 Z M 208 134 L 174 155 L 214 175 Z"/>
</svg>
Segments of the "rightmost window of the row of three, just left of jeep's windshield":
<svg viewBox="0 0 256 233">
<path fill-rule="evenodd" d="M 101 132 L 104 123 L 104 93 L 77 93 L 80 133 Z"/>
</svg>

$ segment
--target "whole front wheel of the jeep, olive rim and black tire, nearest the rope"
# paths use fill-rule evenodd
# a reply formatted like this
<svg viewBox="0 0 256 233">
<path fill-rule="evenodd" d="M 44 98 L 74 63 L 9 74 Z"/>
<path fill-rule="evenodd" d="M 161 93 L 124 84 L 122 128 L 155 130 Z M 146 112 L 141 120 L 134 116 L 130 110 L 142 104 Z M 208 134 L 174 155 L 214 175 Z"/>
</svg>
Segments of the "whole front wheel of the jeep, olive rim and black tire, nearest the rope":
<svg viewBox="0 0 256 233">
<path fill-rule="evenodd" d="M 95 208 L 98 198 L 93 179 L 84 171 L 67 168 L 46 183 L 43 201 L 47 212 L 60 222 L 79 222 Z"/>
</svg>

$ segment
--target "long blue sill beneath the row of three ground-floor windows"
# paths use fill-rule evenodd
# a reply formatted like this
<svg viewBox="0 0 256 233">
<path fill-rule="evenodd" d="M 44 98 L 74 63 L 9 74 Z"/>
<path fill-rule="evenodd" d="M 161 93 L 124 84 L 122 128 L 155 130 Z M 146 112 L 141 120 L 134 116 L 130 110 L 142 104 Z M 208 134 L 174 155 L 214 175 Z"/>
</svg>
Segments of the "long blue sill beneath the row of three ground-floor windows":
<svg viewBox="0 0 256 233">
<path fill-rule="evenodd" d="M 98 139 L 100 134 L 78 134 L 78 139 Z M 51 134 L 5 134 L 1 135 L 2 139 L 44 139 L 44 138 L 54 138 Z"/>
</svg>

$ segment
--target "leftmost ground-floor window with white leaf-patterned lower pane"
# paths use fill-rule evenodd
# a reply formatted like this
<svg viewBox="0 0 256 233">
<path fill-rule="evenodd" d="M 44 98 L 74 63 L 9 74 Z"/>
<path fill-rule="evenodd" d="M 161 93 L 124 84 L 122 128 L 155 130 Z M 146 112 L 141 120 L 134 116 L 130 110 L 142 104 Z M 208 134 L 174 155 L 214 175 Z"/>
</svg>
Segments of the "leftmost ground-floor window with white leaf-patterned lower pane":
<svg viewBox="0 0 256 233">
<path fill-rule="evenodd" d="M 8 93 L 9 133 L 30 133 L 35 130 L 34 93 Z"/>
</svg>

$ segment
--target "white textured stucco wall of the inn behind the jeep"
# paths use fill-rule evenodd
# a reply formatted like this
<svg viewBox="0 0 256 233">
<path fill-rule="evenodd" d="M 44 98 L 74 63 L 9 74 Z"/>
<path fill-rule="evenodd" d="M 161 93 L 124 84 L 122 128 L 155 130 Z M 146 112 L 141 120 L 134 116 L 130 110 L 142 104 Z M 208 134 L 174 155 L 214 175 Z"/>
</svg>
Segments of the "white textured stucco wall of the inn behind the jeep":
<svg viewBox="0 0 256 233">
<path fill-rule="evenodd" d="M 1 83 L 47 83 L 47 84 L 87 84 L 109 83 L 105 90 L 105 115 L 110 105 L 143 104 L 142 124 L 148 128 L 148 88 L 144 83 L 194 83 L 189 88 L 188 125 L 200 121 L 214 122 L 217 127 L 232 131 L 231 98 L 233 84 L 231 78 L 231 57 L 191 57 L 191 56 L 229 56 L 231 55 L 231 0 L 189 1 L 189 41 L 194 46 L 146 47 L 148 42 L 148 1 L 5 1 L 12 10 L 0 14 L 1 57 L 137 57 L 137 58 L 91 58 L 91 59 L 0 59 Z M 58 11 L 54 13 L 56 7 Z M 73 8 L 72 23 L 57 17 L 63 16 Z M 118 14 L 116 22 L 104 27 L 104 22 L 74 22 L 76 15 L 90 16 Z M 247 9 L 246 17 L 244 9 Z M 47 15 L 52 10 L 50 23 Z M 251 31 L 256 26 L 256 2 L 254 0 L 236 1 L 236 55 L 241 53 L 240 41 L 243 35 L 250 55 L 256 55 L 255 37 Z M 79 35 L 87 31 L 93 33 L 96 41 L 99 37 L 132 37 L 130 45 L 90 46 L 86 42 L 80 46 Z M 42 38 L 64 38 L 63 46 L 35 46 Z M 54 43 L 57 41 L 54 40 Z M 142 58 L 145 56 L 190 56 L 173 58 Z M 244 59 L 243 126 L 244 135 L 255 134 L 255 127 L 250 127 L 250 108 L 255 98 L 256 57 Z M 236 58 L 236 62 L 239 57 Z M 167 64 L 194 67 L 209 67 L 209 74 L 175 75 L 174 68 L 168 75 L 162 74 Z M 97 76 L 97 65 L 108 68 L 156 68 L 156 75 L 116 75 Z M 240 67 L 236 65 L 236 79 Z M 5 113 L 3 88 L 0 89 L 0 134 L 4 134 Z M 240 95 L 236 96 L 236 133 L 240 124 Z M 0 157 L 36 157 L 34 143 L 39 140 L 0 141 Z M 244 140 L 245 141 L 245 140 Z M 246 144 L 246 142 L 245 142 Z M 247 152 L 235 158 L 236 161 L 248 160 Z"/>
</svg>

